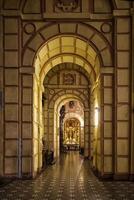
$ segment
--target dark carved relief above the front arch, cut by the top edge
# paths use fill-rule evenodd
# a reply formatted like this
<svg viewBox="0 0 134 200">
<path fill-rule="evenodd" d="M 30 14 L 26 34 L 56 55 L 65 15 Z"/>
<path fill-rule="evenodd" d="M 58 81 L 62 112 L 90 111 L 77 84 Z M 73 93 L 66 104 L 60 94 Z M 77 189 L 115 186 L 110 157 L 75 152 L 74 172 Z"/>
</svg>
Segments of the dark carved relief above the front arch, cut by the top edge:
<svg viewBox="0 0 134 200">
<path fill-rule="evenodd" d="M 55 0 L 55 6 L 63 12 L 72 12 L 79 6 L 79 0 Z"/>
</svg>

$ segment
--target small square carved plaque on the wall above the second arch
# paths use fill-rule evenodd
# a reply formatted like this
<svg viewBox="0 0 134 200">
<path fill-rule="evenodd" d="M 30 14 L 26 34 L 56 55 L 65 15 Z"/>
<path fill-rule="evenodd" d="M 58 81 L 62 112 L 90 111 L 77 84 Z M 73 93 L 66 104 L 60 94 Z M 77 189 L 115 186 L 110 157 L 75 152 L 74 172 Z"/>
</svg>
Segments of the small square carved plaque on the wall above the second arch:
<svg viewBox="0 0 134 200">
<path fill-rule="evenodd" d="M 76 84 L 76 74 L 63 74 L 63 84 L 64 85 L 74 85 Z"/>
</svg>

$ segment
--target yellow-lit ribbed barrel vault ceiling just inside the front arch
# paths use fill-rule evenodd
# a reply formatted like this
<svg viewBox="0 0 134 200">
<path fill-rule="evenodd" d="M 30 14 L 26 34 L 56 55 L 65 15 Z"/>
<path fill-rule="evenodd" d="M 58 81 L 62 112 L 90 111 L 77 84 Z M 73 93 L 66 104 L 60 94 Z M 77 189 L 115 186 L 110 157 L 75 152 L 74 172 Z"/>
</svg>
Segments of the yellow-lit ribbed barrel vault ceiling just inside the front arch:
<svg viewBox="0 0 134 200">
<path fill-rule="evenodd" d="M 61 63 L 74 63 L 81 66 L 94 83 L 100 73 L 100 57 L 95 50 L 77 36 L 60 36 L 45 43 L 38 51 L 35 60 L 35 74 L 43 84 L 46 74 Z"/>
</svg>

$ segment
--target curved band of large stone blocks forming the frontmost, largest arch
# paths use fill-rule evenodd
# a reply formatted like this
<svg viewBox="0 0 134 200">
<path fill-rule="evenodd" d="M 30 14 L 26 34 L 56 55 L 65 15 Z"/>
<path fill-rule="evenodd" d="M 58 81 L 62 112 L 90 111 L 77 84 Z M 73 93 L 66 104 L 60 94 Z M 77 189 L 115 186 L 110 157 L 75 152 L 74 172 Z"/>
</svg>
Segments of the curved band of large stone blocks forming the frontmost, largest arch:
<svg viewBox="0 0 134 200">
<path fill-rule="evenodd" d="M 47 24 L 35 32 L 24 45 L 23 66 L 32 66 L 37 50 L 42 48 L 42 45 L 46 44 L 48 40 L 53 40 L 54 37 L 60 35 L 80 37 L 82 41 L 86 41 L 95 50 L 102 61 L 102 66 L 112 66 L 112 47 L 103 34 L 88 24 L 71 23 L 71 26 L 69 25 L 68 23 Z M 110 26 L 110 24 L 108 25 Z M 63 26 L 67 26 L 68 31 L 64 31 Z"/>
</svg>

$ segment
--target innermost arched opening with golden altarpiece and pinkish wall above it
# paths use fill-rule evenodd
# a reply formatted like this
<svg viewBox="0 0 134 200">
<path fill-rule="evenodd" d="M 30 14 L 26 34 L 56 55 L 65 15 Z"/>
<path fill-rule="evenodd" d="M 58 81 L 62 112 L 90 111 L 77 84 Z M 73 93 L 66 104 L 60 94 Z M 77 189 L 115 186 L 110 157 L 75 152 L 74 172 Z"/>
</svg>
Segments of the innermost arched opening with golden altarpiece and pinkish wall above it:
<svg viewBox="0 0 134 200">
<path fill-rule="evenodd" d="M 65 116 L 62 124 L 63 144 L 66 147 L 68 147 L 69 145 L 71 147 L 72 144 L 72 149 L 79 150 L 79 152 L 84 155 L 84 106 L 78 100 L 68 101 L 64 106 Z"/>
</svg>

